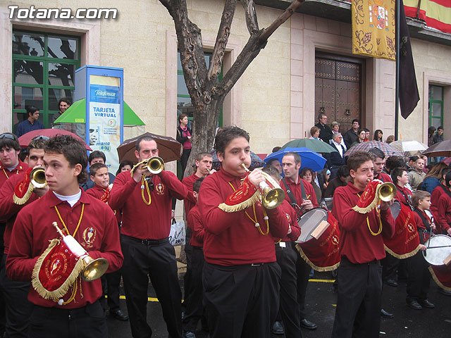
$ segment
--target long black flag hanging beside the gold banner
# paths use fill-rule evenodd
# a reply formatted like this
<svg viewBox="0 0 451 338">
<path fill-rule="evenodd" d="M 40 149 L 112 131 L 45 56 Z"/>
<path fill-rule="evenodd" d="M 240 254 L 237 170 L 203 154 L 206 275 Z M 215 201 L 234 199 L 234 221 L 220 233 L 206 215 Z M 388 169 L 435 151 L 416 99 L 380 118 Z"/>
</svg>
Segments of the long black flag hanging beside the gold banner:
<svg viewBox="0 0 451 338">
<path fill-rule="evenodd" d="M 403 118 L 408 118 L 410 113 L 418 104 L 420 99 L 418 86 L 416 85 L 414 58 L 412 58 L 412 47 L 410 46 L 409 29 L 407 28 L 404 4 L 400 1 L 400 55 L 396 62 L 400 67 L 400 108 Z"/>
</svg>

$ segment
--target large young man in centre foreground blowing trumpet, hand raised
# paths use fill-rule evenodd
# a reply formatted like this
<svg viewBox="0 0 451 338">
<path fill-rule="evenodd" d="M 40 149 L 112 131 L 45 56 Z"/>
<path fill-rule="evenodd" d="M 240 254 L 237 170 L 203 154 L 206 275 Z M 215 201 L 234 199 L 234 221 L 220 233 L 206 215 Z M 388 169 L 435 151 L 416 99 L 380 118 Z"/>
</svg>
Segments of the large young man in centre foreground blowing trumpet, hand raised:
<svg viewBox="0 0 451 338">
<path fill-rule="evenodd" d="M 280 206 L 269 209 L 259 201 L 257 189 L 265 178 L 261 170 L 247 175 L 251 158 L 245 130 L 224 127 L 215 149 L 221 170 L 207 176 L 199 191 L 210 337 L 270 337 L 280 280 L 274 242 L 290 231 L 288 219 Z"/>
</svg>

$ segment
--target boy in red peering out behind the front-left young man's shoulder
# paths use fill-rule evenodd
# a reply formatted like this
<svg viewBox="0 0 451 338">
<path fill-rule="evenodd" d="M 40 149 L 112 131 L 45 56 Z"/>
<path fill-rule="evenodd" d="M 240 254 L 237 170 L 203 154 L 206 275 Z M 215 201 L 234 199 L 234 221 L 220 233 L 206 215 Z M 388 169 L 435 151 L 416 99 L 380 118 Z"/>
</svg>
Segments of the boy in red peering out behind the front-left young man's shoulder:
<svg viewBox="0 0 451 338">
<path fill-rule="evenodd" d="M 92 182 L 94 182 L 94 187 L 87 189 L 86 193 L 108 204 L 111 187 L 113 186 L 113 184 L 109 184 L 108 167 L 105 163 L 94 163 L 89 168 L 89 175 Z M 120 224 L 121 213 L 114 210 L 114 214 L 116 215 L 118 224 Z M 108 307 L 110 309 L 110 315 L 112 315 L 117 320 L 128 320 L 128 315 L 125 315 L 125 313 L 121 311 L 121 307 L 119 306 L 119 284 L 121 284 L 121 270 L 115 271 L 114 273 L 107 273 L 102 276 L 101 284 L 102 289 L 104 290 L 104 295 L 101 298 L 102 306 L 106 308 L 104 301 L 105 294 L 108 294 L 107 300 Z M 107 292 L 105 292 L 105 289 L 107 290 Z"/>
</svg>

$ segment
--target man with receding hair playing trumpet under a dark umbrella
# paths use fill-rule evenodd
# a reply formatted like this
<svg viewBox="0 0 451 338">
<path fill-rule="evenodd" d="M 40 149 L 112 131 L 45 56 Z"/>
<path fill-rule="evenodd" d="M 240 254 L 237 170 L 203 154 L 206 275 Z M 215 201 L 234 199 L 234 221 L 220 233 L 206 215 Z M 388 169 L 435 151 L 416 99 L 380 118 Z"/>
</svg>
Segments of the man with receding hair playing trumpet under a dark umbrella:
<svg viewBox="0 0 451 338">
<path fill-rule="evenodd" d="M 152 137 L 140 137 L 135 156 L 139 163 L 158 156 Z M 135 165 L 119 173 L 111 189 L 109 205 L 122 208 L 122 270 L 128 315 L 133 337 L 150 337 L 147 323 L 149 277 L 161 303 L 169 337 L 182 337 L 182 293 L 178 284 L 175 251 L 168 241 L 172 198 L 187 197 L 185 185 L 171 172 L 152 174 Z"/>
</svg>

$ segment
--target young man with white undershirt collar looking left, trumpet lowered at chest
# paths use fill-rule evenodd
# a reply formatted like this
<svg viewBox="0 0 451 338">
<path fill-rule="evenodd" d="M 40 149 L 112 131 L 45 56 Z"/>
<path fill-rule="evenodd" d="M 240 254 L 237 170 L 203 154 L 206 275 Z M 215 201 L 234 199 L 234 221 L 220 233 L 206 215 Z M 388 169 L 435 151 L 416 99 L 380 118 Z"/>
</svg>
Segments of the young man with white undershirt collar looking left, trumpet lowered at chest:
<svg viewBox="0 0 451 338">
<path fill-rule="evenodd" d="M 123 256 L 113 211 L 78 185 L 87 177 L 86 166 L 85 146 L 77 139 L 67 135 L 49 139 L 44 144 L 44 167 L 51 191 L 25 206 L 13 226 L 6 273 L 11 280 L 32 280 L 30 337 L 107 337 L 99 302 L 101 282 L 82 280 L 75 268 L 80 268 L 80 261 L 68 250 L 57 250 L 62 241 L 58 244 L 61 237 L 52 224 L 70 234 L 91 258 L 105 258 L 109 262 L 106 272 L 121 268 Z"/>
</svg>

